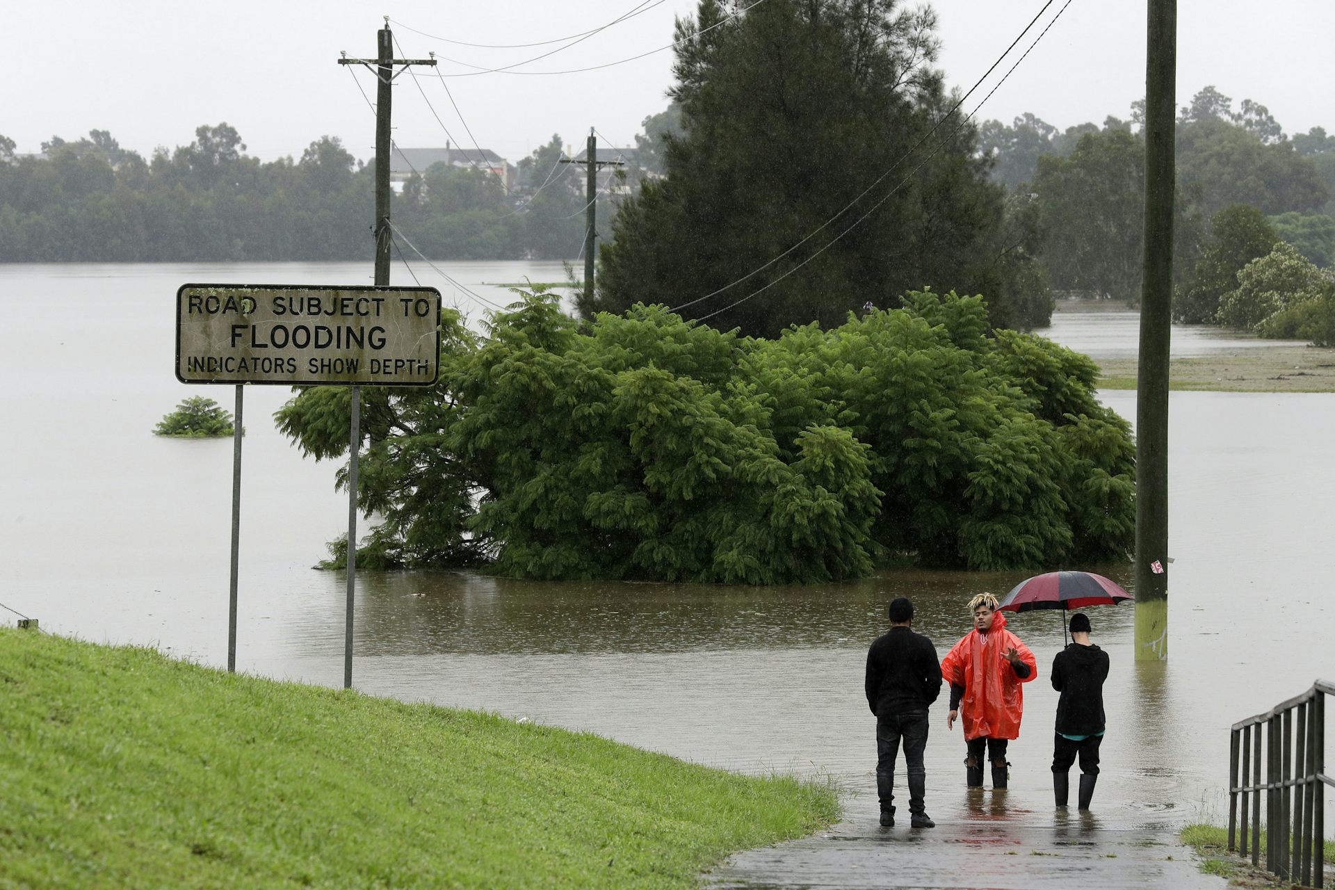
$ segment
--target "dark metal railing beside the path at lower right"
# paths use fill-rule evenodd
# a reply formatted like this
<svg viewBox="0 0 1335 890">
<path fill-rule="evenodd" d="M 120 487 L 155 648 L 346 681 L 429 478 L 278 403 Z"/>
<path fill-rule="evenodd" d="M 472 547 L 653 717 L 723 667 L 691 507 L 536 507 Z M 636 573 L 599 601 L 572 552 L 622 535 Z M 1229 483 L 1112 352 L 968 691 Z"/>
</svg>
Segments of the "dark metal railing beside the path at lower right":
<svg viewBox="0 0 1335 890">
<path fill-rule="evenodd" d="M 1316 681 L 1302 695 L 1234 723 L 1230 741 L 1230 851 L 1238 850 L 1246 857 L 1250 850 L 1252 865 L 1260 865 L 1260 802 L 1264 795 L 1266 869 L 1307 887 L 1323 886 L 1326 786 L 1335 786 L 1335 779 L 1326 775 L 1326 697 L 1331 694 L 1335 694 L 1335 683 Z M 1235 843 L 1239 837 L 1240 845 Z"/>
</svg>

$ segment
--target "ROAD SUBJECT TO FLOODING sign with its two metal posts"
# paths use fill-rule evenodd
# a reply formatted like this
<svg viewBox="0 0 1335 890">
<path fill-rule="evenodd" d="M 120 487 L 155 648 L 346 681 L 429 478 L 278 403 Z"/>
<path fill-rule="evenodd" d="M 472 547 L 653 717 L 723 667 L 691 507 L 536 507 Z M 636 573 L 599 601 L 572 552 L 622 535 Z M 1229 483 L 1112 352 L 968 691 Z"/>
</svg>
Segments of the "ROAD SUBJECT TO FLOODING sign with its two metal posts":
<svg viewBox="0 0 1335 890">
<path fill-rule="evenodd" d="M 356 471 L 362 386 L 433 386 L 441 360 L 441 292 L 434 287 L 183 284 L 176 291 L 176 379 L 232 383 L 232 550 L 227 670 L 236 670 L 244 384 L 350 386 L 347 627 L 343 686 L 352 685 Z"/>
</svg>

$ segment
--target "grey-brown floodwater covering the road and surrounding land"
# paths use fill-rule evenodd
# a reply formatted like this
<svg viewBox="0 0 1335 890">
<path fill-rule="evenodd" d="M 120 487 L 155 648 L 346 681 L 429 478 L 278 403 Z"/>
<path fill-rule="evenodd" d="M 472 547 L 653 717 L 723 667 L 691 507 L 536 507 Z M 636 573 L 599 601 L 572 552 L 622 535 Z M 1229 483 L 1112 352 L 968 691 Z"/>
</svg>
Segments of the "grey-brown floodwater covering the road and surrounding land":
<svg viewBox="0 0 1335 890">
<path fill-rule="evenodd" d="M 450 263 L 483 282 L 558 280 L 559 264 Z M 423 284 L 470 300 L 426 267 Z M 172 375 L 174 295 L 186 282 L 364 283 L 363 264 L 0 266 L 0 603 L 59 634 L 159 646 L 210 664 L 227 655 L 231 440 L 155 438 L 188 395 Z M 395 284 L 411 283 L 403 267 Z M 1116 322 L 1116 319 L 1113 319 Z M 1135 351 L 1108 315 L 1059 315 L 1071 346 Z M 1230 338 L 1193 332 L 1211 343 Z M 1176 336 L 1176 331 L 1175 331 Z M 1239 340 L 1232 338 L 1235 342 Z M 1195 348 L 1189 336 L 1179 344 Z M 270 415 L 283 387 L 250 387 L 238 664 L 338 686 L 344 579 L 311 570 L 346 528 L 331 463 L 303 459 Z M 1135 416 L 1133 392 L 1107 392 Z M 1132 610 L 1091 610 L 1108 648 L 1104 825 L 1227 818 L 1228 726 L 1335 679 L 1335 395 L 1171 395 L 1171 650 L 1131 660 Z M 1129 566 L 1088 567 L 1131 584 Z M 359 572 L 355 686 L 591 730 L 742 771 L 828 775 L 874 813 L 873 718 L 861 679 L 884 607 L 905 594 L 945 648 L 980 590 L 1023 572 L 893 571 L 820 587 L 534 583 L 455 572 Z M 13 619 L 0 610 L 0 620 Z M 1004 805 L 963 789 L 964 743 L 933 709 L 928 806 L 937 819 L 1051 818 L 1048 761 L 1061 646 L 1053 612 L 1012 618 L 1039 658 Z M 991 794 L 991 793 L 987 793 Z M 991 802 L 991 798 L 987 798 Z M 1335 825 L 1327 817 L 1327 825 Z"/>
</svg>

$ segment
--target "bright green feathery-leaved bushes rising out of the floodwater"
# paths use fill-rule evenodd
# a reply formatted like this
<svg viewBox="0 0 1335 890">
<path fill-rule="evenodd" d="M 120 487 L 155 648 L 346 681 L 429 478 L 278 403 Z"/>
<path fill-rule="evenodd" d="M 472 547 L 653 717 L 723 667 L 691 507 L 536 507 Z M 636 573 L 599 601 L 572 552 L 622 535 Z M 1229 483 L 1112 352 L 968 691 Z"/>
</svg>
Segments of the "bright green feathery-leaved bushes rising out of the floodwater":
<svg viewBox="0 0 1335 890">
<path fill-rule="evenodd" d="M 979 298 L 905 303 L 778 339 L 643 304 L 577 328 L 541 292 L 481 338 L 445 311 L 437 387 L 363 390 L 383 522 L 359 564 L 778 583 L 1124 556 L 1135 450 L 1093 363 L 989 334 Z M 347 419 L 335 387 L 278 414 L 316 458 Z"/>
</svg>

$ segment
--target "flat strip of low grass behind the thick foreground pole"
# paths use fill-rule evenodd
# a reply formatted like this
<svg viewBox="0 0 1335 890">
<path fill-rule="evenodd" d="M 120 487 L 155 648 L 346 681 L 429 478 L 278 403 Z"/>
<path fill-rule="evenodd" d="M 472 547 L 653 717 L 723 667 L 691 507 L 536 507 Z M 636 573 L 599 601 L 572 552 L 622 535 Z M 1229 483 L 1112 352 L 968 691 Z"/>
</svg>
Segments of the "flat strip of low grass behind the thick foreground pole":
<svg viewBox="0 0 1335 890">
<path fill-rule="evenodd" d="M 1099 359 L 1100 390 L 1135 390 L 1136 359 Z M 1172 359 L 1169 390 L 1215 392 L 1335 392 L 1335 350 L 1251 347 Z"/>
</svg>

